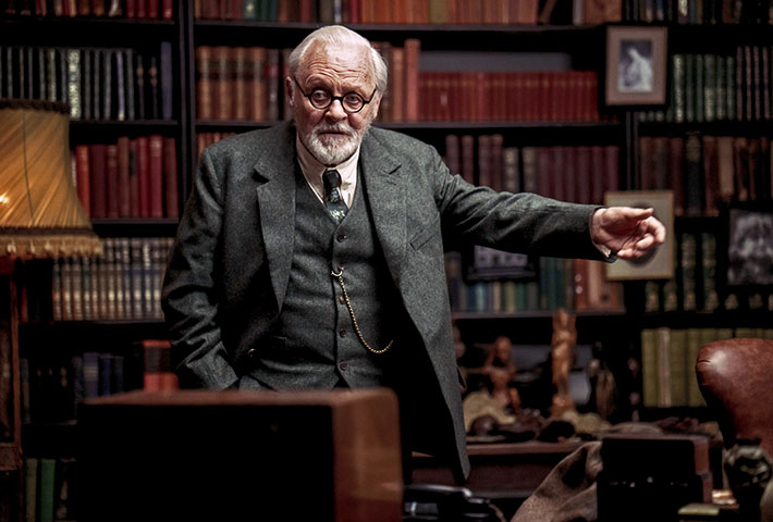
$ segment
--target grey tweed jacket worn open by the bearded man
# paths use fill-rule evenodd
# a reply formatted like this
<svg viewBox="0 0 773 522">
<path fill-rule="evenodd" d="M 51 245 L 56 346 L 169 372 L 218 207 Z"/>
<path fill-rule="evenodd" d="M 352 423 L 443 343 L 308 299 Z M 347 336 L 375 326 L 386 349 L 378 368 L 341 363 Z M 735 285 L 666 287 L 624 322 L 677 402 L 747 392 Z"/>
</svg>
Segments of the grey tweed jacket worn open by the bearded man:
<svg viewBox="0 0 773 522">
<path fill-rule="evenodd" d="M 469 462 L 444 269 L 445 237 L 502 250 L 600 259 L 593 207 L 496 194 L 452 175 L 430 146 L 371 128 L 359 174 L 410 332 L 401 364 L 414 449 Z M 225 388 L 282 310 L 293 258 L 295 127 L 224 139 L 203 154 L 164 276 L 162 304 L 186 387 Z M 358 188 L 359 189 L 359 188 Z"/>
</svg>

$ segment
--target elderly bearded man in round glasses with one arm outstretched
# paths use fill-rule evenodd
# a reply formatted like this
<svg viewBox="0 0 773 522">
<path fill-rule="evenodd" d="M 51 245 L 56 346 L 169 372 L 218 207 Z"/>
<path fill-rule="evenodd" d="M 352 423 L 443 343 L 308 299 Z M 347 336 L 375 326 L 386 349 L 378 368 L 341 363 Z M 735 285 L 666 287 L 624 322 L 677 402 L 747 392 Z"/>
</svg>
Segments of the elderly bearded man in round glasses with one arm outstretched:
<svg viewBox="0 0 773 522">
<path fill-rule="evenodd" d="M 404 447 L 466 477 L 443 238 L 630 259 L 665 231 L 649 210 L 473 186 L 432 147 L 371 128 L 387 67 L 347 28 L 314 32 L 289 69 L 293 121 L 201 156 L 163 288 L 181 383 L 389 386 Z"/>
</svg>

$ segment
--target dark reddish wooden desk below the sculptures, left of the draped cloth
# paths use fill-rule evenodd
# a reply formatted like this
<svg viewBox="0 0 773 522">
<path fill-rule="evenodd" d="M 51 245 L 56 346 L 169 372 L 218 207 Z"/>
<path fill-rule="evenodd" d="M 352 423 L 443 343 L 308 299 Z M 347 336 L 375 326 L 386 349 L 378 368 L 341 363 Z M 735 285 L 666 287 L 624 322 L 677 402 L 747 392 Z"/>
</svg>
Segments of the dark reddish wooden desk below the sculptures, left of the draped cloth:
<svg viewBox="0 0 773 522">
<path fill-rule="evenodd" d="M 564 457 L 581 442 L 517 444 L 470 444 L 471 471 L 462 484 L 476 496 L 491 499 L 507 517 L 515 513 L 531 492 Z M 451 470 L 434 457 L 414 453 L 415 484 L 459 485 Z"/>
</svg>

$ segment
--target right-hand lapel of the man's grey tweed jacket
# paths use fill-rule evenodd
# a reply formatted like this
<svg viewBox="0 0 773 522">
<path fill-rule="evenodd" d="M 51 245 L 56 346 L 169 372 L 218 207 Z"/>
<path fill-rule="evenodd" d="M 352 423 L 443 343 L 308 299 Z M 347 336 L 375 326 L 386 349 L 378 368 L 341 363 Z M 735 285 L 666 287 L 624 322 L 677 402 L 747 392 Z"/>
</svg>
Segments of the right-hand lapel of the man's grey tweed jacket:
<svg viewBox="0 0 773 522">
<path fill-rule="evenodd" d="M 400 163 L 370 133 L 363 139 L 359 164 L 376 235 L 392 278 L 400 287 L 400 272 L 408 244 L 404 174 Z"/>
</svg>

